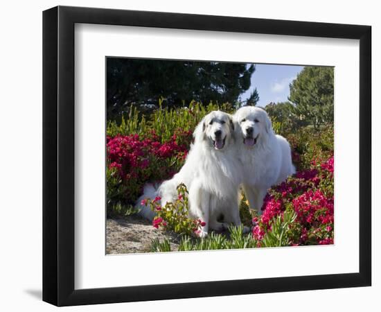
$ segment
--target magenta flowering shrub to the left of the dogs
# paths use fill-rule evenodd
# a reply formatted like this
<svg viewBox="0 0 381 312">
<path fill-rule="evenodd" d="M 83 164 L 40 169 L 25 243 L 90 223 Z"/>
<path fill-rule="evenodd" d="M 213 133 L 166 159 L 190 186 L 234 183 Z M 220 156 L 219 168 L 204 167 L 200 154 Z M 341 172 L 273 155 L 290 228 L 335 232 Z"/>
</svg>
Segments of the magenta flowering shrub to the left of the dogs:
<svg viewBox="0 0 381 312">
<path fill-rule="evenodd" d="M 139 135 L 107 137 L 108 210 L 118 203 L 134 205 L 145 183 L 172 177 L 188 151 L 184 137 L 191 137 L 191 133 L 178 130 L 164 144 L 153 131 L 144 139 Z"/>
</svg>

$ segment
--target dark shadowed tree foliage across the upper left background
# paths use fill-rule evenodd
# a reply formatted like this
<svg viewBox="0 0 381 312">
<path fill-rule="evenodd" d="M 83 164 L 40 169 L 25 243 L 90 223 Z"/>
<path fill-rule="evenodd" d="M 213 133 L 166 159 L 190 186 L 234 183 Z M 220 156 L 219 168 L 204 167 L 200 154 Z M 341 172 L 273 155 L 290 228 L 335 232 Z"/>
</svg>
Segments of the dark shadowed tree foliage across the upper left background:
<svg viewBox="0 0 381 312">
<path fill-rule="evenodd" d="M 192 100 L 233 104 L 249 89 L 254 71 L 245 63 L 107 58 L 107 119 L 119 121 L 131 105 L 150 114 L 159 98 L 166 107 Z M 258 92 L 250 101 L 258 101 Z"/>
</svg>

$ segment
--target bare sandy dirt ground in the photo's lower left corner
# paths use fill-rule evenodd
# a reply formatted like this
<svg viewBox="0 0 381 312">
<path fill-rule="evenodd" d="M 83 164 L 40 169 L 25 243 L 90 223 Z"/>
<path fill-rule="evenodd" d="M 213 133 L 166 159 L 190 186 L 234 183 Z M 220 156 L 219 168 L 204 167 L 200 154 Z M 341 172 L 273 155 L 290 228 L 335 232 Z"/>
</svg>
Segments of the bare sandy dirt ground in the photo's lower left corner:
<svg viewBox="0 0 381 312">
<path fill-rule="evenodd" d="M 107 218 L 106 221 L 106 253 L 128 254 L 149 252 L 152 239 L 168 239 L 171 250 L 177 250 L 179 239 L 175 234 L 163 233 L 152 227 L 152 223 L 139 216 L 124 218 Z"/>
</svg>

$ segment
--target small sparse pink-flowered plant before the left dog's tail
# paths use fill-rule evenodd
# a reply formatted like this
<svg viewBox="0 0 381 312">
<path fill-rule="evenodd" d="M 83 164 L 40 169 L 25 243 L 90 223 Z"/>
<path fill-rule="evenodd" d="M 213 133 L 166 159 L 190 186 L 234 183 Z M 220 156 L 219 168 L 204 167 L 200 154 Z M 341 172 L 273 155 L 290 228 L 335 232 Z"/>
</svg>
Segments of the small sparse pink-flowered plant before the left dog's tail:
<svg viewBox="0 0 381 312">
<path fill-rule="evenodd" d="M 157 216 L 152 220 L 153 227 L 157 229 L 172 230 L 179 234 L 199 234 L 200 229 L 206 224 L 198 219 L 189 218 L 188 216 L 188 190 L 184 184 L 177 187 L 177 200 L 175 202 L 167 202 L 161 207 L 159 202 L 161 198 L 157 197 L 153 200 L 144 199 L 141 205 L 149 205 Z"/>
</svg>

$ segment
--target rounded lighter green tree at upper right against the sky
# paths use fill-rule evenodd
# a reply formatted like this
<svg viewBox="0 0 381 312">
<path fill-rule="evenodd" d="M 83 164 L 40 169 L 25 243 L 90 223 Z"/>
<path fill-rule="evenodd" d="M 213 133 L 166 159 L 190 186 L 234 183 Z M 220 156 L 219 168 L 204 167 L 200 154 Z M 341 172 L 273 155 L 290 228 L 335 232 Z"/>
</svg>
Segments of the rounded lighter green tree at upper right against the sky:
<svg viewBox="0 0 381 312">
<path fill-rule="evenodd" d="M 333 87 L 333 67 L 304 67 L 290 85 L 295 114 L 315 130 L 333 123 Z"/>
</svg>

